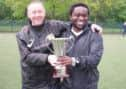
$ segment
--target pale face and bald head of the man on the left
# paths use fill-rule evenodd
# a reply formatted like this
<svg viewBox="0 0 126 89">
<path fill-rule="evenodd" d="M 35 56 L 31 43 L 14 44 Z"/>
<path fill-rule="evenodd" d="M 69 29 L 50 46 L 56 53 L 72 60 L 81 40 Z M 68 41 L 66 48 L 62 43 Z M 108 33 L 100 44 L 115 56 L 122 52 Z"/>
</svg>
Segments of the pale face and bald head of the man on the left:
<svg viewBox="0 0 126 89">
<path fill-rule="evenodd" d="M 45 8 L 41 3 L 32 3 L 27 8 L 27 16 L 31 20 L 33 26 L 43 24 L 45 14 Z"/>
</svg>

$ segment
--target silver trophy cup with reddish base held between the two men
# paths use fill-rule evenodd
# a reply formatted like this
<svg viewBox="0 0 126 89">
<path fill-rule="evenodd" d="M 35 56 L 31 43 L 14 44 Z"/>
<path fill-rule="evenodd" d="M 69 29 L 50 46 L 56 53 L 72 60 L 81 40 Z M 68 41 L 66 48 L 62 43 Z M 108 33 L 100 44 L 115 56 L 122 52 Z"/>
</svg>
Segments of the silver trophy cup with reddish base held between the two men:
<svg viewBox="0 0 126 89">
<path fill-rule="evenodd" d="M 55 38 L 53 34 L 50 34 L 47 36 L 47 39 L 50 40 L 53 44 L 53 53 L 58 56 L 65 56 L 66 53 L 66 42 L 69 40 L 69 38 Z M 62 64 L 58 64 L 54 66 L 54 78 L 60 78 L 60 81 L 62 82 L 65 77 L 68 77 L 66 71 L 66 66 Z"/>
</svg>

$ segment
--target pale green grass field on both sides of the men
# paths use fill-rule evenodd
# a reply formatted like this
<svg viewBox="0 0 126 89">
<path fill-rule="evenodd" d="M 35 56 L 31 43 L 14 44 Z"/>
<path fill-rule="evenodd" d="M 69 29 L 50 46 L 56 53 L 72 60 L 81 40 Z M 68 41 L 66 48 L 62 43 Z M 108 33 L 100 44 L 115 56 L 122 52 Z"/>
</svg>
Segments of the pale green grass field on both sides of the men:
<svg viewBox="0 0 126 89">
<path fill-rule="evenodd" d="M 126 89 L 126 38 L 103 35 L 99 89 Z M 21 89 L 20 60 L 15 34 L 0 33 L 0 89 Z"/>
</svg>

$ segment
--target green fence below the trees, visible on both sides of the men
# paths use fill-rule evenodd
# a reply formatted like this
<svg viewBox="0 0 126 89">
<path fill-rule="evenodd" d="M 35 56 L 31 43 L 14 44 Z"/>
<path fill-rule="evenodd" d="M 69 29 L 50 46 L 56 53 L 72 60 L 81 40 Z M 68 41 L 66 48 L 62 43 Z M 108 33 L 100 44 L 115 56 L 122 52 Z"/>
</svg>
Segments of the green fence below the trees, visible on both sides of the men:
<svg viewBox="0 0 126 89">
<path fill-rule="evenodd" d="M 27 20 L 1 20 L 0 32 L 17 32 L 23 25 L 27 24 Z M 122 23 L 118 22 L 98 22 L 103 27 L 104 33 L 121 33 Z"/>
</svg>

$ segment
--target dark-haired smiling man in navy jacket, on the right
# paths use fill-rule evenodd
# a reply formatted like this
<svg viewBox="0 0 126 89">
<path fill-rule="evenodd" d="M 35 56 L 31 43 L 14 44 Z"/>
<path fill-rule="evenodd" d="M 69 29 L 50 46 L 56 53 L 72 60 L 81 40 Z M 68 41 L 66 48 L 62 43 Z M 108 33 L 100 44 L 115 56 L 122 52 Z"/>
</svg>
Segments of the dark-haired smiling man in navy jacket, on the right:
<svg viewBox="0 0 126 89">
<path fill-rule="evenodd" d="M 66 56 L 57 62 L 68 66 L 70 89 L 98 89 L 97 66 L 103 54 L 103 39 L 88 27 L 89 8 L 86 4 L 74 4 L 70 9 L 70 21 L 65 37 L 72 37 L 67 44 Z M 63 86 L 64 87 L 64 86 Z M 62 88 L 64 89 L 64 88 Z"/>
</svg>

